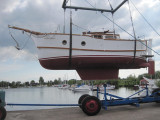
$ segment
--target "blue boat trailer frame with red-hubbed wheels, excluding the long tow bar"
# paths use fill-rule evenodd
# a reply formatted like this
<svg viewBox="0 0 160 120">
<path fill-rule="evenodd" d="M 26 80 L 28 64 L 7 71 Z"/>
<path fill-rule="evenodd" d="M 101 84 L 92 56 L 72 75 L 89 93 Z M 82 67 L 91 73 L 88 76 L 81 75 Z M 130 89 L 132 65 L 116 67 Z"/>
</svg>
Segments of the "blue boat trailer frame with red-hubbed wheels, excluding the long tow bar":
<svg viewBox="0 0 160 120">
<path fill-rule="evenodd" d="M 109 106 L 132 105 L 135 107 L 140 107 L 140 103 L 160 103 L 160 88 L 157 88 L 156 91 L 153 91 L 151 94 L 149 94 L 149 88 L 146 85 L 146 87 L 142 90 L 139 90 L 126 98 L 123 98 L 106 92 L 106 86 L 107 85 L 104 84 L 103 93 L 100 92 L 99 87 L 97 87 L 97 99 L 94 96 L 87 96 L 81 101 L 81 108 L 84 113 L 86 113 L 89 116 L 93 116 L 98 114 L 101 108 L 107 110 Z M 134 97 L 135 95 L 140 94 L 145 90 L 146 96 Z M 100 100 L 100 94 L 103 94 L 103 100 Z"/>
</svg>

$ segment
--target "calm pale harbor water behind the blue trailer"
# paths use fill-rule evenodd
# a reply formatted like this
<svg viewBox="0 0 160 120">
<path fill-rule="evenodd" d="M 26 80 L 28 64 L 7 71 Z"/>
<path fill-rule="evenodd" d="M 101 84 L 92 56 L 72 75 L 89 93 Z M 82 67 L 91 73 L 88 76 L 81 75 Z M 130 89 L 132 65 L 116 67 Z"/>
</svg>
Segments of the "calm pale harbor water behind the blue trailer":
<svg viewBox="0 0 160 120">
<path fill-rule="evenodd" d="M 34 87 L 34 88 L 14 88 L 5 89 L 7 103 L 27 103 L 27 104 L 77 104 L 84 92 L 73 92 L 71 90 L 58 89 L 56 87 Z M 135 93 L 135 90 L 119 88 L 108 90 L 107 92 L 121 97 L 128 97 Z M 87 94 L 96 95 L 96 92 L 89 91 Z M 103 99 L 103 96 L 100 96 Z M 6 106 L 7 111 L 53 109 L 60 107 L 53 106 Z"/>
</svg>

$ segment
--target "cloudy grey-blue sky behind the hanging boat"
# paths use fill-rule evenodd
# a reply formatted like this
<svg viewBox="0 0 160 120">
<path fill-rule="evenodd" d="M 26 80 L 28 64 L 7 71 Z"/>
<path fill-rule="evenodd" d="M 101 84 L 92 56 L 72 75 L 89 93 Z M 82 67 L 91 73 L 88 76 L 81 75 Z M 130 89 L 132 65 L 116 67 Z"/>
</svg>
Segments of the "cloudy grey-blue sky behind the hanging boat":
<svg viewBox="0 0 160 120">
<path fill-rule="evenodd" d="M 115 8 L 123 0 L 110 0 Z M 20 31 L 8 29 L 8 25 L 22 27 L 38 32 L 69 32 L 70 10 L 62 9 L 63 0 L 0 0 L 0 81 L 31 81 L 38 82 L 42 76 L 45 81 L 61 78 L 80 79 L 75 70 L 46 70 L 41 67 L 37 58 L 36 47 L 32 39 Z M 67 5 L 110 9 L 108 0 L 72 0 Z M 90 3 L 90 4 L 89 4 Z M 92 5 L 92 6 L 91 6 Z M 154 27 L 157 33 L 145 22 L 136 8 L 146 20 Z M 153 39 L 153 49 L 160 53 L 160 1 L 159 0 L 132 0 L 130 9 L 133 18 L 136 37 Z M 103 13 L 112 19 L 110 13 Z M 103 31 L 113 30 L 113 24 L 101 13 L 96 11 L 72 10 L 73 33 L 81 34 L 84 30 Z M 128 3 L 125 3 L 115 14 L 114 21 L 123 29 L 133 34 Z M 83 29 L 82 29 L 83 28 Z M 132 39 L 123 30 L 115 25 L 115 30 L 121 38 Z M 16 42 L 21 50 L 15 48 Z M 154 54 L 156 70 L 160 70 L 160 56 Z M 138 76 L 147 73 L 147 69 L 120 70 L 119 77 L 129 75 Z"/>
</svg>

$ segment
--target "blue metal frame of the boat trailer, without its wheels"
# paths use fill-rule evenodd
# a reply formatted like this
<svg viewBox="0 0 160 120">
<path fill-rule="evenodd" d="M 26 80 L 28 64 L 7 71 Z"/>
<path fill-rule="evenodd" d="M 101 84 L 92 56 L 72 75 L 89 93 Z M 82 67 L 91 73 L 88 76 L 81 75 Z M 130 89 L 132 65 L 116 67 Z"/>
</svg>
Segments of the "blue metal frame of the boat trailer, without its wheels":
<svg viewBox="0 0 160 120">
<path fill-rule="evenodd" d="M 140 103 L 149 103 L 149 102 L 158 102 L 160 101 L 160 96 L 157 95 L 160 91 L 157 91 L 155 93 L 152 93 L 149 95 L 149 89 L 148 86 L 146 85 L 145 88 L 142 90 L 128 96 L 127 98 L 119 97 L 117 95 L 113 95 L 110 93 L 106 92 L 106 86 L 104 85 L 104 93 L 101 93 L 97 89 L 97 98 L 99 98 L 99 94 L 104 94 L 104 100 L 101 100 L 101 105 L 105 110 L 107 110 L 108 106 L 118 106 L 118 105 L 133 105 L 136 107 L 140 106 Z M 133 97 L 143 91 L 146 90 L 146 96 L 144 97 Z M 107 99 L 107 96 L 110 97 L 110 99 Z M 116 99 L 114 99 L 116 98 Z"/>
</svg>

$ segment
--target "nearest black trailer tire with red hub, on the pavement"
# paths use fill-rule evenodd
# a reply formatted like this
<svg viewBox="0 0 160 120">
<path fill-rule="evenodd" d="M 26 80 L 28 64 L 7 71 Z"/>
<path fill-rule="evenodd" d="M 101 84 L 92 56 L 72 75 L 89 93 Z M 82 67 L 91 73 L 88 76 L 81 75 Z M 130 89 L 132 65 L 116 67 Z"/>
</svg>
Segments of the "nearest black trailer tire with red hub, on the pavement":
<svg viewBox="0 0 160 120">
<path fill-rule="evenodd" d="M 95 96 L 85 97 L 82 101 L 82 110 L 85 114 L 89 116 L 96 115 L 101 110 L 101 102 Z"/>
</svg>

